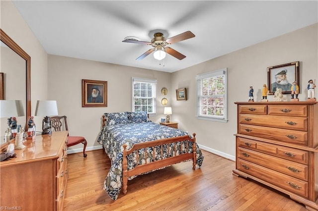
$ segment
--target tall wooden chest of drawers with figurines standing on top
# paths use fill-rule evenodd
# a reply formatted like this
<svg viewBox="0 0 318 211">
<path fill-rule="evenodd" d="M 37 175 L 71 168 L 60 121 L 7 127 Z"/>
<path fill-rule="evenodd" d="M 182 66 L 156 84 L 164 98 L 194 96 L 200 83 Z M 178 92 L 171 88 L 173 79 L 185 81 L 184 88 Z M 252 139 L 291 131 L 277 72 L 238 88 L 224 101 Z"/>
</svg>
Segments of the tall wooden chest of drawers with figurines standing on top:
<svg viewBox="0 0 318 211">
<path fill-rule="evenodd" d="M 318 210 L 317 102 L 238 102 L 234 175 Z"/>
</svg>

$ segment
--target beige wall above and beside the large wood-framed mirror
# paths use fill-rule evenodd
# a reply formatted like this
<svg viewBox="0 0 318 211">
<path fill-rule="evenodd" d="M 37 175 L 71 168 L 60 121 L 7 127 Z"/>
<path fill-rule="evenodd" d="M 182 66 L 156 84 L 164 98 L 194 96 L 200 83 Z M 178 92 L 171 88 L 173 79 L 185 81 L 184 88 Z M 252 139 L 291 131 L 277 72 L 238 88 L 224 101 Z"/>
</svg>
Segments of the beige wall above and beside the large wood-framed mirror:
<svg viewBox="0 0 318 211">
<path fill-rule="evenodd" d="M 31 57 L 31 115 L 36 101 L 47 98 L 47 53 L 10 0 L 0 1 L 0 28 Z M 43 117 L 35 117 L 42 130 Z"/>
</svg>

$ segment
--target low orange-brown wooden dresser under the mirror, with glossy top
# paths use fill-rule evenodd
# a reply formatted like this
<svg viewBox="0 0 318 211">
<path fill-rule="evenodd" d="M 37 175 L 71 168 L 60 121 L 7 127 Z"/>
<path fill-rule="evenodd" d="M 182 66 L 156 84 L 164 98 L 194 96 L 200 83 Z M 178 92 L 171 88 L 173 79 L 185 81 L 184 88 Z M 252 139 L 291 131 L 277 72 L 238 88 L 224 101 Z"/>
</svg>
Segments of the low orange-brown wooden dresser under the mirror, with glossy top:
<svg viewBox="0 0 318 211">
<path fill-rule="evenodd" d="M 68 132 L 36 136 L 0 163 L 3 210 L 60 211 L 68 179 Z"/>
</svg>

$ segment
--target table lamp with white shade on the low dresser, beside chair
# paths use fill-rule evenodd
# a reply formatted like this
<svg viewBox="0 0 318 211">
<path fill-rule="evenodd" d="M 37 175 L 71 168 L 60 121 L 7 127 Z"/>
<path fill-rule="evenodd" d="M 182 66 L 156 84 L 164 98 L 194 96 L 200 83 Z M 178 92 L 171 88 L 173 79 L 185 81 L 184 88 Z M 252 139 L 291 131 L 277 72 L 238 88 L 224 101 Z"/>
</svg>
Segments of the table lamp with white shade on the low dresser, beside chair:
<svg viewBox="0 0 318 211">
<path fill-rule="evenodd" d="M 51 135 L 51 118 L 49 116 L 58 115 L 58 106 L 56 101 L 37 101 L 35 115 L 45 116 L 42 124 L 42 135 Z"/>
</svg>

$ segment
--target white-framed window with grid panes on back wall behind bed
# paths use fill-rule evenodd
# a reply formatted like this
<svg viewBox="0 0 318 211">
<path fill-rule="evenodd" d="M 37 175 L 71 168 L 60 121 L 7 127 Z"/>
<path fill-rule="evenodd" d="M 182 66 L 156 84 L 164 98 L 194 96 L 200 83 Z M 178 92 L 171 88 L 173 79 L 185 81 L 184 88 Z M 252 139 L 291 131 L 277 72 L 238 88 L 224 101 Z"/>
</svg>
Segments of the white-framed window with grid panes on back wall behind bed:
<svg viewBox="0 0 318 211">
<path fill-rule="evenodd" d="M 132 111 L 156 113 L 157 80 L 132 78 Z"/>
</svg>

